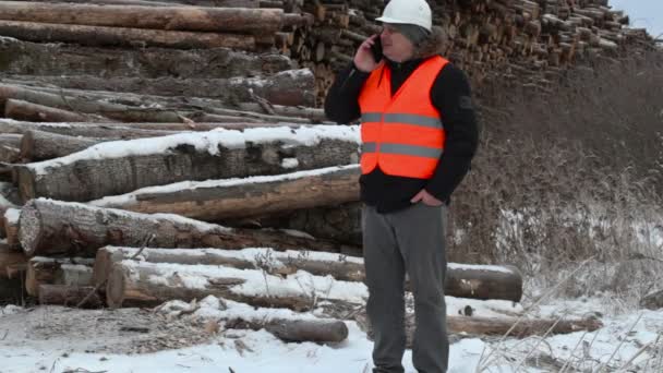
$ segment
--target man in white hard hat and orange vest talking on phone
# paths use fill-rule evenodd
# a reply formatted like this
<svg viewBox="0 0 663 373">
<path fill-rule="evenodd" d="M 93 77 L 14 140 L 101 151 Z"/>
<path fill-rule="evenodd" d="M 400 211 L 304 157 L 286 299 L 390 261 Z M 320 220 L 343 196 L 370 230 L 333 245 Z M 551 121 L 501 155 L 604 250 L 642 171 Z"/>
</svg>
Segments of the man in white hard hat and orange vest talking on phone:
<svg viewBox="0 0 663 373">
<path fill-rule="evenodd" d="M 337 76 L 327 117 L 361 117 L 363 249 L 374 332 L 374 372 L 403 372 L 403 282 L 414 296 L 412 360 L 419 372 L 448 365 L 444 226 L 451 192 L 470 168 L 478 128 L 465 74 L 438 55 L 425 0 L 391 0 L 379 36 Z M 382 41 L 383 58 L 371 47 Z"/>
</svg>

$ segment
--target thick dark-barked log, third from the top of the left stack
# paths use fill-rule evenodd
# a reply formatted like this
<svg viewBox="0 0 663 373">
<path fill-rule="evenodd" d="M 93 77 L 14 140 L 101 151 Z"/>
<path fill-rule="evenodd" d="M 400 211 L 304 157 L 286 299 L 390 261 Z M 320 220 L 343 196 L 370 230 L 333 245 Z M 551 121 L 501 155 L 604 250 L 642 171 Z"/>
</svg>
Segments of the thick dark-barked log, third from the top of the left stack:
<svg viewBox="0 0 663 373">
<path fill-rule="evenodd" d="M 246 53 L 227 48 L 98 48 L 69 44 L 36 44 L 12 38 L 0 43 L 2 71 L 34 75 L 232 77 L 274 74 L 294 69 L 277 53 Z M 49 56 L 50 58 L 43 58 Z"/>
</svg>

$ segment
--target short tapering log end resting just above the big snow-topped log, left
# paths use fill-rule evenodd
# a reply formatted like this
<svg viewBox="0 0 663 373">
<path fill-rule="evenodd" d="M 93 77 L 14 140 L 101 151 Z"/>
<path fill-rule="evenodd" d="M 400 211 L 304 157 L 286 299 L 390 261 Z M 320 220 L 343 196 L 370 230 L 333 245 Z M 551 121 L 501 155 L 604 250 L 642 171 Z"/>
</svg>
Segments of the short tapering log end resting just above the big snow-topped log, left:
<svg viewBox="0 0 663 373">
<path fill-rule="evenodd" d="M 58 158 L 83 151 L 104 141 L 106 140 L 74 137 L 28 130 L 21 140 L 21 157 L 31 161 Z"/>
</svg>

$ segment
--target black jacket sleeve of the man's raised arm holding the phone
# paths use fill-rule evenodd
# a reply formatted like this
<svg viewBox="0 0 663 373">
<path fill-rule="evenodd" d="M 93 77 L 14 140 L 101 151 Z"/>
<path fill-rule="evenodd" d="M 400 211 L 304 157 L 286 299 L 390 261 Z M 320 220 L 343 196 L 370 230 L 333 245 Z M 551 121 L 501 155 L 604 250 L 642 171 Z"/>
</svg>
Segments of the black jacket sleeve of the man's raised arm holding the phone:
<svg viewBox="0 0 663 373">
<path fill-rule="evenodd" d="M 359 94 L 369 75 L 358 70 L 354 63 L 338 73 L 325 97 L 325 115 L 329 120 L 345 124 L 361 116 Z"/>
</svg>

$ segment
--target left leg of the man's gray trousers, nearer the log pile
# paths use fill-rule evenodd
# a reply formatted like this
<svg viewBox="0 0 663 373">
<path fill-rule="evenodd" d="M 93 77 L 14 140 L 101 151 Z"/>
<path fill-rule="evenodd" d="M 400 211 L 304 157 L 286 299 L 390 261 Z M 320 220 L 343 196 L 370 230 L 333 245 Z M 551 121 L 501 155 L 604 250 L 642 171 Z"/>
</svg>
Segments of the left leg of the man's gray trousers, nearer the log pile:
<svg viewBox="0 0 663 373">
<path fill-rule="evenodd" d="M 379 373 L 402 373 L 406 349 L 405 263 L 386 215 L 374 207 L 362 212 L 363 252 L 369 301 L 366 312 L 374 333 L 373 363 Z"/>
</svg>

